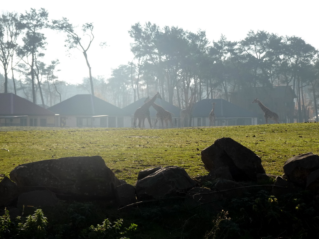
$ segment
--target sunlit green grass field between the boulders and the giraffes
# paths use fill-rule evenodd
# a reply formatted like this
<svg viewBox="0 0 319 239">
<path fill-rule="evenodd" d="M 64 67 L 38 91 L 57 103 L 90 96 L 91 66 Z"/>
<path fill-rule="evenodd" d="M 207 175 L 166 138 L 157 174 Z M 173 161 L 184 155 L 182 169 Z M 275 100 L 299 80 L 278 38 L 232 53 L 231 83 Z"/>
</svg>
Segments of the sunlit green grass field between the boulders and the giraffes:
<svg viewBox="0 0 319 239">
<path fill-rule="evenodd" d="M 174 129 L 0 127 L 0 174 L 22 163 L 100 155 L 119 179 L 135 184 L 139 171 L 177 165 L 191 177 L 206 175 L 201 150 L 231 137 L 262 159 L 267 173 L 282 175 L 287 159 L 319 153 L 319 124 L 269 124 Z"/>
</svg>

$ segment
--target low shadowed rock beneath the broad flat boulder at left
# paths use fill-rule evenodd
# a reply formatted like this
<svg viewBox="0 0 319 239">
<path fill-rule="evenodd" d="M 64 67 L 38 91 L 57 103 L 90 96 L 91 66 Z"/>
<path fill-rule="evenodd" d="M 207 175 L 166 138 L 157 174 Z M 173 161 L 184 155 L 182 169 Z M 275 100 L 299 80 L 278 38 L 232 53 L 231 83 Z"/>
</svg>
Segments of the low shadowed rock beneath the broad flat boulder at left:
<svg viewBox="0 0 319 239">
<path fill-rule="evenodd" d="M 48 190 L 24 192 L 19 195 L 17 208 L 22 212 L 23 206 L 54 206 L 58 201 L 55 193 Z"/>
</svg>

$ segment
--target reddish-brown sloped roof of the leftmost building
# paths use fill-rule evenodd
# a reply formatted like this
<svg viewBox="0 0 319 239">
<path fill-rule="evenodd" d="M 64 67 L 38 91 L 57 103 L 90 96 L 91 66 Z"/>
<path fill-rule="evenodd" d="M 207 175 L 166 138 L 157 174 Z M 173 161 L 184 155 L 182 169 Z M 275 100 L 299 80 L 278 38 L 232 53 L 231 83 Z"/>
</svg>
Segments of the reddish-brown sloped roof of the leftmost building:
<svg viewBox="0 0 319 239">
<path fill-rule="evenodd" d="M 55 115 L 52 111 L 13 93 L 0 93 L 0 102 L 0 115 Z"/>
</svg>

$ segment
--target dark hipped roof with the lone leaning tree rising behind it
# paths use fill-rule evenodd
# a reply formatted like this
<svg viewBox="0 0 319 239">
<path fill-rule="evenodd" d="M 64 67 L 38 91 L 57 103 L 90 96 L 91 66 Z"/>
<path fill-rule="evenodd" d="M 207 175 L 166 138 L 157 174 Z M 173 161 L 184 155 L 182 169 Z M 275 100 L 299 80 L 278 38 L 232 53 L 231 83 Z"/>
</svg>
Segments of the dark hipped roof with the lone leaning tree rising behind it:
<svg viewBox="0 0 319 239">
<path fill-rule="evenodd" d="M 53 105 L 48 110 L 60 115 L 111 115 L 125 116 L 130 113 L 91 94 L 75 95 Z"/>
</svg>

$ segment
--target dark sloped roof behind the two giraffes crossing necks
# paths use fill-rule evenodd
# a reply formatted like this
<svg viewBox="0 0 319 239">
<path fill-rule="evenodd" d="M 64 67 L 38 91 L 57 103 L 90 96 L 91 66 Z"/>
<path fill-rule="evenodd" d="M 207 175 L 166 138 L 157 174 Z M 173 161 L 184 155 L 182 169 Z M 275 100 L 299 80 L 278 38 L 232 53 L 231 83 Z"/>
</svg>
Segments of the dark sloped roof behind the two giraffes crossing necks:
<svg viewBox="0 0 319 239">
<path fill-rule="evenodd" d="M 122 109 L 129 112 L 132 115 L 137 110 L 137 108 L 144 105 L 145 99 L 146 99 L 146 97 L 140 98 L 139 100 L 135 101 L 134 103 L 132 103 L 130 105 L 123 107 Z M 181 109 L 178 108 L 177 106 L 172 105 L 172 104 L 168 103 L 167 101 L 165 101 L 163 99 L 159 99 L 159 98 L 156 98 L 154 103 L 156 105 L 162 106 L 164 108 L 164 110 L 167 110 L 167 111 L 173 113 L 174 115 L 172 115 L 172 117 L 180 117 Z M 156 117 L 156 113 L 157 113 L 157 111 L 151 106 L 150 107 L 150 116 Z"/>
</svg>

